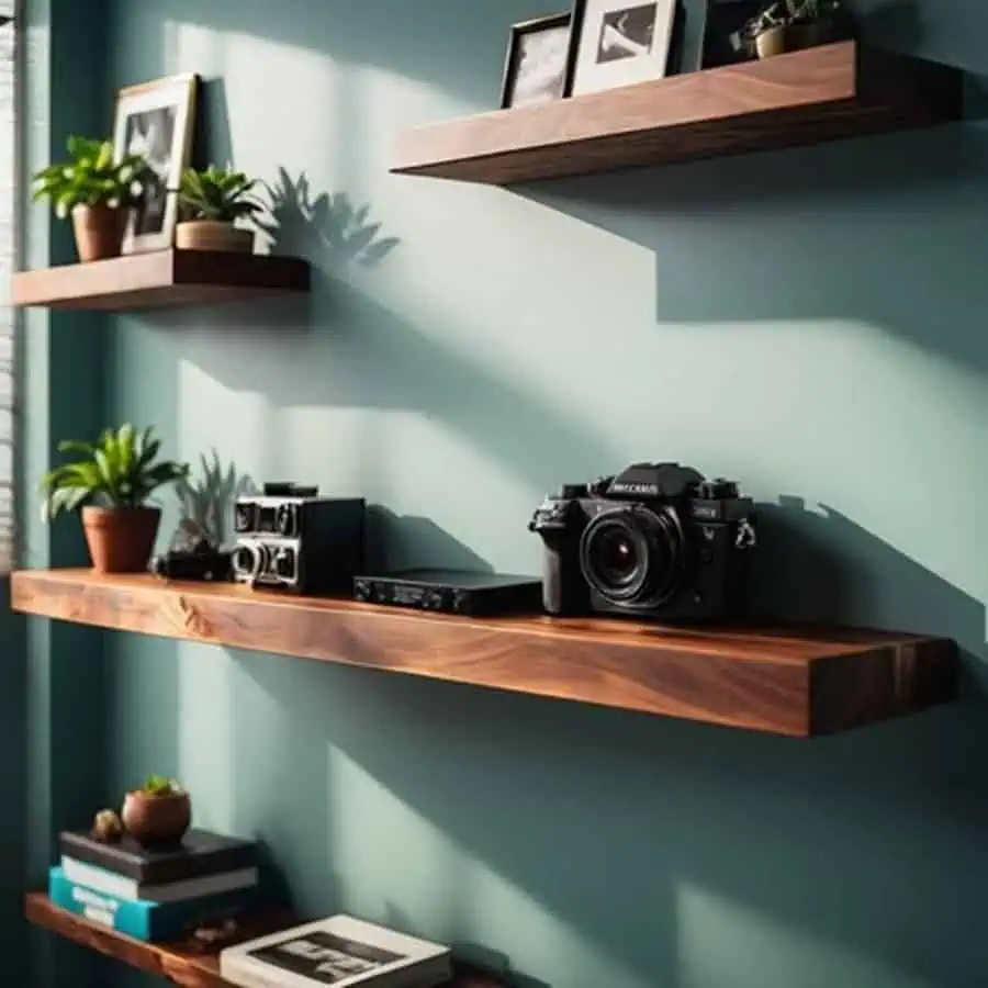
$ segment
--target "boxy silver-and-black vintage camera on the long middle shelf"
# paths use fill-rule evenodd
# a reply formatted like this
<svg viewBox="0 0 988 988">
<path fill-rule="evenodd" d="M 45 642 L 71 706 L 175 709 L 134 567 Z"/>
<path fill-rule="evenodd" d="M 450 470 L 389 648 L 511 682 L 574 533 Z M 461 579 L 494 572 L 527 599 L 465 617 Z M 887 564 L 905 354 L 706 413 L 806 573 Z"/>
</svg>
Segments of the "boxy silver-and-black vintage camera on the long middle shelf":
<svg viewBox="0 0 988 988">
<path fill-rule="evenodd" d="M 319 497 L 317 487 L 265 484 L 237 498 L 237 583 L 295 593 L 349 593 L 363 571 L 363 498 Z"/>
</svg>

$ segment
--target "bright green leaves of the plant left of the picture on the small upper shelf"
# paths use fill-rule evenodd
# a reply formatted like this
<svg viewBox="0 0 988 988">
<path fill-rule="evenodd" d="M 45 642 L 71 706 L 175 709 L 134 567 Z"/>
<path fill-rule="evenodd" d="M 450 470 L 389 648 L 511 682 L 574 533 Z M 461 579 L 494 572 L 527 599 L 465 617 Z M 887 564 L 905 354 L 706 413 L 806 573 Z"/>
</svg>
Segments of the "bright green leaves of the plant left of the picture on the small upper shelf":
<svg viewBox="0 0 988 988">
<path fill-rule="evenodd" d="M 141 201 L 150 175 L 142 155 L 113 160 L 113 143 L 69 137 L 70 160 L 43 168 L 34 176 L 34 200 L 50 199 L 65 220 L 77 205 L 128 207 Z"/>
</svg>

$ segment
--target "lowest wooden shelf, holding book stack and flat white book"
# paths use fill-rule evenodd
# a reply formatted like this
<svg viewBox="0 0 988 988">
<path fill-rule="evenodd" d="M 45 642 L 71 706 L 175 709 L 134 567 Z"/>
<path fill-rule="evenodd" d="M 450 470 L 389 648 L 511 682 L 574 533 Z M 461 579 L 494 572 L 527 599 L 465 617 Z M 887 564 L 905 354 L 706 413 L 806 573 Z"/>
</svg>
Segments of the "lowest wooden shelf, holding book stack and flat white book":
<svg viewBox="0 0 988 988">
<path fill-rule="evenodd" d="M 106 927 L 82 919 L 48 901 L 43 892 L 31 892 L 25 901 L 27 919 L 52 930 L 81 946 L 108 957 L 114 957 L 139 970 L 158 975 L 181 988 L 235 988 L 220 977 L 220 961 L 215 956 L 197 953 L 182 944 L 144 943 L 115 933 Z M 245 929 L 245 938 L 262 936 L 284 929 L 291 923 L 284 918 L 260 921 Z M 447 988 L 504 988 L 501 981 L 486 975 L 463 972 Z"/>
</svg>

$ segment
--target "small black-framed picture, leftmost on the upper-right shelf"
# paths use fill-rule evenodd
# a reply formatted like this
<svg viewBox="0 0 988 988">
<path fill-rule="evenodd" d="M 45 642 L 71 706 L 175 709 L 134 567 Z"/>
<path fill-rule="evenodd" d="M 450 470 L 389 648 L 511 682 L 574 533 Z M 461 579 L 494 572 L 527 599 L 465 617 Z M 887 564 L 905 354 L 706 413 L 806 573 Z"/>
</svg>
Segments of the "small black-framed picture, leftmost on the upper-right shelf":
<svg viewBox="0 0 988 988">
<path fill-rule="evenodd" d="M 501 87 L 501 108 L 562 99 L 570 53 L 569 11 L 512 27 Z"/>
</svg>

